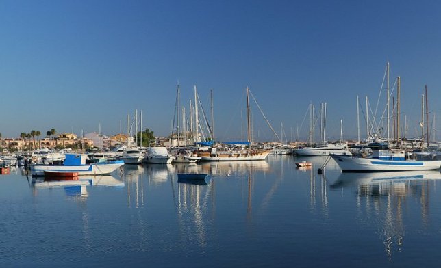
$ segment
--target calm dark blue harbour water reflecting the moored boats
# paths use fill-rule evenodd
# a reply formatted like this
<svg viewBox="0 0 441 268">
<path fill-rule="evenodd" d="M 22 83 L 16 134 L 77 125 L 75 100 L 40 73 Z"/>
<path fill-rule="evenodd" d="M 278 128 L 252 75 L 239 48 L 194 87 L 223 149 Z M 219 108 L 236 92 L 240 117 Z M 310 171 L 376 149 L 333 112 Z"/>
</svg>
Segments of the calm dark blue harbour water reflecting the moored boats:
<svg viewBox="0 0 441 268">
<path fill-rule="evenodd" d="M 297 169 L 296 161 L 314 163 Z M 1 267 L 439 267 L 440 172 L 325 158 L 144 165 L 71 182 L 0 175 Z M 210 173 L 205 185 L 178 172 Z"/>
</svg>

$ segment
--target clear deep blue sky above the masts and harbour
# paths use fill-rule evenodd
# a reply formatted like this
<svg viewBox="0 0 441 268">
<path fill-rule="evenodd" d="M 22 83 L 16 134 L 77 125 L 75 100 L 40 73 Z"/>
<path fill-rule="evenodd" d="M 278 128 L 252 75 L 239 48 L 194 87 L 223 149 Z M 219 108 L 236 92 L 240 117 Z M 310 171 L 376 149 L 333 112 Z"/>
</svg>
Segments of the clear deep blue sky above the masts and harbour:
<svg viewBox="0 0 441 268">
<path fill-rule="evenodd" d="M 311 102 L 327 103 L 330 139 L 340 119 L 355 137 L 356 96 L 375 109 L 389 61 L 413 136 L 425 84 L 441 116 L 440 14 L 438 1 L 1 1 L 0 132 L 113 135 L 138 109 L 168 135 L 179 81 L 187 106 L 197 85 L 209 109 L 213 89 L 218 139 L 241 137 L 247 86 L 288 139 L 307 136 Z M 253 113 L 255 136 L 274 139 Z"/>
</svg>

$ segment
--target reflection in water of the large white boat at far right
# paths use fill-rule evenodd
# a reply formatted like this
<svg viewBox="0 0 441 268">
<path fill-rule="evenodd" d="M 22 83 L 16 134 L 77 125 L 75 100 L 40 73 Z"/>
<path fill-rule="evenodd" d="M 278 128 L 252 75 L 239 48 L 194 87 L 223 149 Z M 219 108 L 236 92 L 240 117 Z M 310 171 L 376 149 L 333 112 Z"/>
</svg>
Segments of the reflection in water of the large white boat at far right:
<svg viewBox="0 0 441 268">
<path fill-rule="evenodd" d="M 405 235 L 404 210 L 417 202 L 424 226 L 429 225 L 429 193 L 441 179 L 439 171 L 342 173 L 330 188 L 355 193 L 362 224 L 381 226 L 379 235 L 389 260 L 400 252 Z M 417 206 L 418 208 L 418 206 Z"/>
</svg>

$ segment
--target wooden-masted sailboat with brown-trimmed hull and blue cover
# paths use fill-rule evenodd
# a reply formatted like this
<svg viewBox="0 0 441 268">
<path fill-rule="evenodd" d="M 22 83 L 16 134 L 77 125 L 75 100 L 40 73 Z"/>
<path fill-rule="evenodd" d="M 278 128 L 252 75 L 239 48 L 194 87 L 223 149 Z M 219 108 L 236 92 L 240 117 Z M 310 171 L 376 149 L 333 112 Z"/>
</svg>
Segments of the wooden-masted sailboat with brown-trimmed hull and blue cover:
<svg viewBox="0 0 441 268">
<path fill-rule="evenodd" d="M 247 130 L 248 141 L 242 142 L 243 146 L 225 146 L 216 144 L 208 148 L 199 148 L 197 155 L 201 161 L 256 161 L 265 160 L 273 148 L 257 148 L 251 146 L 249 111 L 249 88 L 247 87 Z"/>
</svg>

